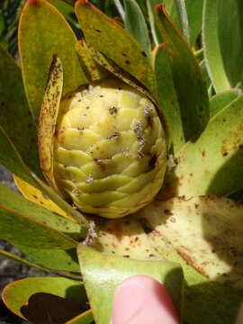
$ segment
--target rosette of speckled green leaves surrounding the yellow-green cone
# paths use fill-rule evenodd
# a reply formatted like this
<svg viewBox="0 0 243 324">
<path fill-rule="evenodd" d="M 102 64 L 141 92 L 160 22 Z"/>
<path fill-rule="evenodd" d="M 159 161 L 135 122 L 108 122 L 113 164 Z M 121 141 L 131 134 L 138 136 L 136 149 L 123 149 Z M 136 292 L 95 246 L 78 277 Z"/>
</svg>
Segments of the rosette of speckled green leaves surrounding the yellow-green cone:
<svg viewBox="0 0 243 324">
<path fill-rule="evenodd" d="M 148 1 L 151 32 L 134 1 L 124 14 L 126 29 L 77 1 L 84 34 L 77 40 L 53 4 L 28 0 L 18 31 L 21 67 L 0 48 L 0 162 L 23 193 L 1 185 L 0 236 L 28 258 L 1 254 L 58 275 L 9 284 L 3 300 L 33 323 L 108 323 L 116 286 L 142 274 L 166 285 L 182 322 L 232 323 L 243 295 L 243 208 L 226 197 L 243 184 L 243 96 L 221 71 L 229 86 L 221 93 L 210 79 L 216 95 L 209 101 L 198 60 L 164 5 Z M 211 77 L 209 34 L 204 28 Z M 60 103 L 107 78 L 153 103 L 166 131 L 160 192 L 116 220 L 76 209 L 53 173 Z"/>
</svg>

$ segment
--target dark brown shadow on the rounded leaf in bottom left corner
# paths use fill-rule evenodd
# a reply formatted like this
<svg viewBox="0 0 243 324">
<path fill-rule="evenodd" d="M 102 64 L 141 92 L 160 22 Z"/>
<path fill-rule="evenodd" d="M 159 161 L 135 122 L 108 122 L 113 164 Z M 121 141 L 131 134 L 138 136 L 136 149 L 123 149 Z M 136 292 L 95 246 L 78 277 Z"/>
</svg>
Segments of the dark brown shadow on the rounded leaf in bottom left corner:
<svg viewBox="0 0 243 324">
<path fill-rule="evenodd" d="M 33 324 L 64 324 L 84 311 L 83 305 L 51 293 L 34 293 L 23 305 L 23 316 Z"/>
</svg>

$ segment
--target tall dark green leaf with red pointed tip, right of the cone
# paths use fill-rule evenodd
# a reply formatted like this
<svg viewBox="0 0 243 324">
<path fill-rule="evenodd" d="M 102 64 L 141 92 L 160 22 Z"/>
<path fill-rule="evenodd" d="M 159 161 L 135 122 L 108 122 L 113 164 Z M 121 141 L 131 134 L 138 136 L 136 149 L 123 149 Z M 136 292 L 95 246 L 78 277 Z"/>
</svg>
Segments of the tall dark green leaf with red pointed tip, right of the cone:
<svg viewBox="0 0 243 324">
<path fill-rule="evenodd" d="M 184 139 L 195 139 L 209 120 L 209 101 L 200 67 L 193 52 L 180 36 L 164 6 L 156 9 L 157 27 L 171 58 L 172 73 L 180 104 Z"/>
</svg>

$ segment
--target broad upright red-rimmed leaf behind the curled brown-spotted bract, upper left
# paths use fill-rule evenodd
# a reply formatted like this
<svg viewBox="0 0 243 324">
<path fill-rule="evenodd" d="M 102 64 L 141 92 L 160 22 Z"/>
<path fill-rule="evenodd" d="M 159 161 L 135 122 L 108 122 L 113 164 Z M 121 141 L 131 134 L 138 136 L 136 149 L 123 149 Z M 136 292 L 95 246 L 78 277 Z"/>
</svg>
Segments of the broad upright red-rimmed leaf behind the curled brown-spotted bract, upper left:
<svg viewBox="0 0 243 324">
<path fill-rule="evenodd" d="M 30 49 L 30 44 L 35 44 Z M 76 36 L 58 10 L 45 0 L 29 0 L 19 26 L 19 49 L 23 81 L 31 112 L 39 117 L 49 67 L 54 54 L 61 59 L 65 74 L 64 94 L 87 83 L 76 55 Z"/>
</svg>

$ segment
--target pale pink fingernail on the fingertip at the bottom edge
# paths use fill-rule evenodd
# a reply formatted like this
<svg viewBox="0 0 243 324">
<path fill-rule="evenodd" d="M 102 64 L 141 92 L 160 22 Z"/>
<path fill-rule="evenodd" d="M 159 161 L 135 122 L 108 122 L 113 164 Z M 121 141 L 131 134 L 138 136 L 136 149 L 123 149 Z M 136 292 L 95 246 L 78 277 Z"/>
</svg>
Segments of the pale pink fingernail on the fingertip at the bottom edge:
<svg viewBox="0 0 243 324">
<path fill-rule="evenodd" d="M 117 288 L 112 303 L 112 324 L 123 324 L 142 308 L 145 287 L 139 276 L 123 281 Z"/>
</svg>

